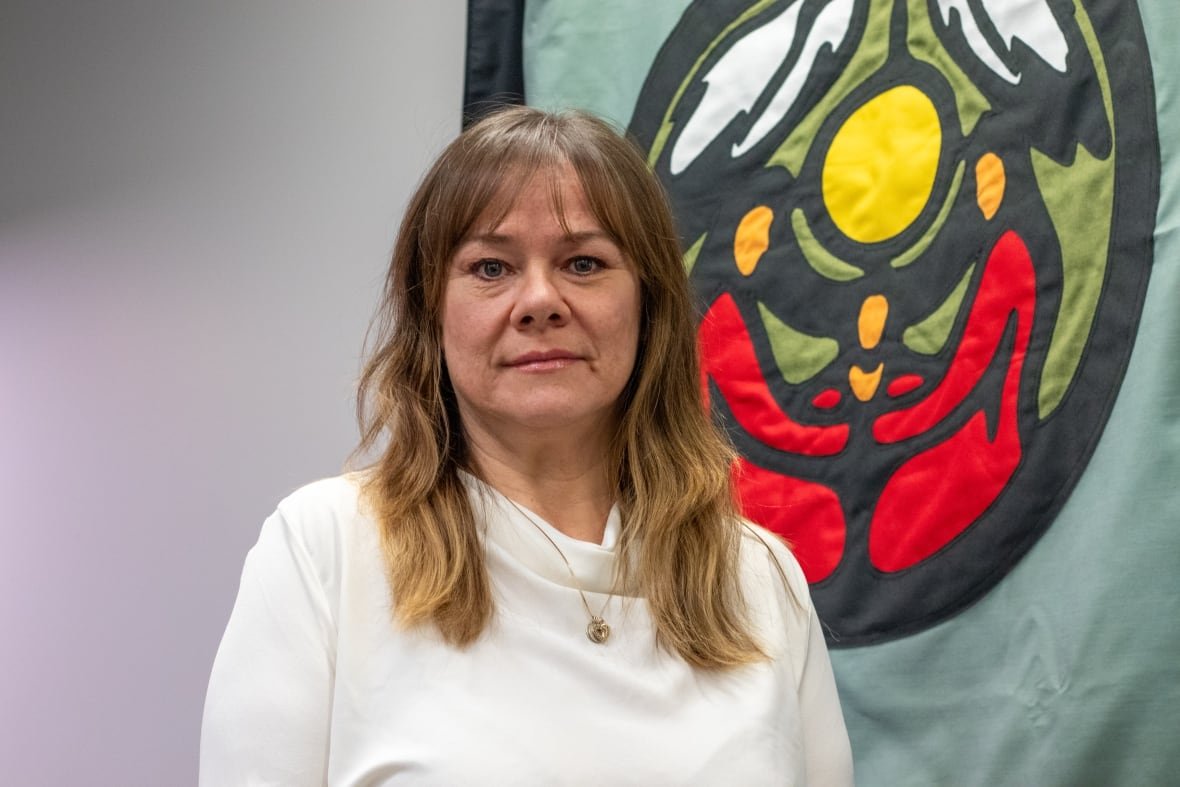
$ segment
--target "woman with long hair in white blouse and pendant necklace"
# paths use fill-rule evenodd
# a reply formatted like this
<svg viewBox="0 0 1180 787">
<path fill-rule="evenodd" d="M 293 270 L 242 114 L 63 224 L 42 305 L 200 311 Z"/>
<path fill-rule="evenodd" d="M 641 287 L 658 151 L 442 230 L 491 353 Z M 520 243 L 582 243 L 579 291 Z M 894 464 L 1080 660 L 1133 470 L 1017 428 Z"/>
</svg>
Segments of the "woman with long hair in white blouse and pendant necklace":
<svg viewBox="0 0 1180 787">
<path fill-rule="evenodd" d="M 599 120 L 461 135 L 401 225 L 366 471 L 280 504 L 203 785 L 846 785 L 791 553 L 742 523 L 658 183 Z"/>
</svg>

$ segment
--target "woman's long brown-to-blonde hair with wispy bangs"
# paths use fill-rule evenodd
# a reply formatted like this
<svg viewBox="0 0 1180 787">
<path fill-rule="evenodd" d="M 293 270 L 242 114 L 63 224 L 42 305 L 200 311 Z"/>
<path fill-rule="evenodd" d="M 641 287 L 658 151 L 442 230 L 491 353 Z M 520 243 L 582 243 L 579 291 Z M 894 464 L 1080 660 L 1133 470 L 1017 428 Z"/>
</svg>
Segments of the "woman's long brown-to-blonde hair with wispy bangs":
<svg viewBox="0 0 1180 787">
<path fill-rule="evenodd" d="M 477 219 L 494 224 L 532 175 L 565 165 L 640 277 L 640 354 L 608 457 L 623 517 L 621 585 L 647 599 L 657 641 L 688 663 L 756 661 L 738 578 L 733 452 L 702 404 L 693 297 L 667 197 L 635 146 L 582 112 L 512 107 L 484 118 L 442 152 L 402 219 L 358 391 L 356 455 L 387 440 L 363 493 L 380 523 L 394 616 L 432 623 L 463 647 L 493 614 L 459 474 L 474 468 L 442 361 L 446 271 Z"/>
</svg>

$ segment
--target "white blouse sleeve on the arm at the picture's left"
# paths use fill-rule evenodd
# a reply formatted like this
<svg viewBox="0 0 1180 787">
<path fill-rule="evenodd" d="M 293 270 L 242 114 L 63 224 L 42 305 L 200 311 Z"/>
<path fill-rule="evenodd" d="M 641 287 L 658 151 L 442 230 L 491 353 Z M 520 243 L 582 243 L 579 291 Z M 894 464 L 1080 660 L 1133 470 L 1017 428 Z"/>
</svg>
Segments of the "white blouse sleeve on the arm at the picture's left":
<svg viewBox="0 0 1180 787">
<path fill-rule="evenodd" d="M 214 660 L 201 787 L 327 783 L 335 641 L 321 572 L 276 512 L 247 556 Z"/>
</svg>

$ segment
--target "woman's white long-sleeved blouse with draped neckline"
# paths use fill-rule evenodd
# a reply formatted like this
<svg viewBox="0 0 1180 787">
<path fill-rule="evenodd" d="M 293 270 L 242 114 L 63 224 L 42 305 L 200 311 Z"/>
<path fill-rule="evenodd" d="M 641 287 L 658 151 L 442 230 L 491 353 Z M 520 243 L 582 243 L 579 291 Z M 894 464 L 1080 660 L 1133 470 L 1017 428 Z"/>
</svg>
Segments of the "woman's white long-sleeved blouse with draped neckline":
<svg viewBox="0 0 1180 787">
<path fill-rule="evenodd" d="M 354 477 L 283 500 L 250 550 L 214 662 L 201 785 L 852 783 L 819 621 L 791 553 L 743 538 L 742 582 L 772 660 L 707 673 L 656 647 L 642 598 L 609 596 L 620 517 L 603 544 L 468 479 L 496 599 L 455 649 L 394 627 L 376 525 Z"/>
</svg>

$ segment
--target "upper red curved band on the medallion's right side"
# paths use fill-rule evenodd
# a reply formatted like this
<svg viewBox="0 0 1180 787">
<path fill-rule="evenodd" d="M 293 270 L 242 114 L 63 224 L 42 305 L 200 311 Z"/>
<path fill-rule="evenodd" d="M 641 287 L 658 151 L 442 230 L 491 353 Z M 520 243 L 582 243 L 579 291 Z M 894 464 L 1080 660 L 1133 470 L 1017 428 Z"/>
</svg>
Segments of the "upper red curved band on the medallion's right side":
<svg viewBox="0 0 1180 787">
<path fill-rule="evenodd" d="M 898 442 L 922 434 L 963 404 L 988 370 L 1012 311 L 1020 315 L 1016 353 L 1023 363 L 1035 301 L 1036 277 L 1028 248 L 1009 230 L 996 241 L 988 257 L 963 339 L 946 374 L 922 401 L 878 418 L 873 424 L 877 441 Z"/>
</svg>

